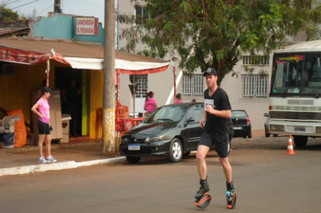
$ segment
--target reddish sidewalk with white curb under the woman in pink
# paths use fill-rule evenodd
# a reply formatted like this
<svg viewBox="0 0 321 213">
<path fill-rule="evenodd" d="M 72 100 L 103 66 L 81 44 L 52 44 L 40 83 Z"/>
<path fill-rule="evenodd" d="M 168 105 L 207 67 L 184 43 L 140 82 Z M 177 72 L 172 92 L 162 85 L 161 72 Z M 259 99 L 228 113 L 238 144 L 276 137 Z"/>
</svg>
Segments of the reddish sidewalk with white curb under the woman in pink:
<svg viewBox="0 0 321 213">
<path fill-rule="evenodd" d="M 119 155 L 108 157 L 102 154 L 102 142 L 81 137 L 66 144 L 51 144 L 51 154 L 58 162 L 41 164 L 38 162 L 37 146 L 0 149 L 0 176 L 74 169 L 125 160 Z"/>
</svg>

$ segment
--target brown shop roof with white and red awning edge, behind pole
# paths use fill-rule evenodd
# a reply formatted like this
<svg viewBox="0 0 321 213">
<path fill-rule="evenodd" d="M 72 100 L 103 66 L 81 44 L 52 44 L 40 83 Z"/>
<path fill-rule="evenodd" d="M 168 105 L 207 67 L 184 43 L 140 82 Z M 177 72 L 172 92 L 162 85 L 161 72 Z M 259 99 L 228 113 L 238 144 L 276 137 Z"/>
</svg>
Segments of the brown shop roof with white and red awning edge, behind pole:
<svg viewBox="0 0 321 213">
<path fill-rule="evenodd" d="M 30 61 L 36 58 L 34 55 L 53 52 L 53 56 L 55 56 L 54 53 L 59 53 L 60 62 L 63 61 L 74 69 L 104 69 L 104 46 L 100 43 L 72 42 L 59 39 L 3 38 L 0 39 L 0 49 L 3 49 L 0 52 L 0 59 L 5 59 L 8 62 L 32 64 L 34 61 Z M 22 58 L 22 54 L 25 57 Z M 21 61 L 22 59 L 28 61 Z M 115 69 L 118 69 L 121 73 L 150 74 L 164 71 L 169 66 L 170 61 L 168 60 L 115 51 Z"/>
</svg>

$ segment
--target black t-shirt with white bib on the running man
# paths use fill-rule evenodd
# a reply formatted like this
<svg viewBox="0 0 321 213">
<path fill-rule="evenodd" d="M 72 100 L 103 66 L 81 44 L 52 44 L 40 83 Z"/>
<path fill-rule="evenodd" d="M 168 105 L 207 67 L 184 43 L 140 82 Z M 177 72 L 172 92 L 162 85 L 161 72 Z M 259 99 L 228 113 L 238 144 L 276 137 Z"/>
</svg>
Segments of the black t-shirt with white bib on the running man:
<svg viewBox="0 0 321 213">
<path fill-rule="evenodd" d="M 227 93 L 223 88 L 217 88 L 214 94 L 209 97 L 208 88 L 204 91 L 204 109 L 206 104 L 210 104 L 216 110 L 230 110 L 231 104 L 228 99 Z M 214 116 L 206 112 L 206 125 L 207 133 L 212 135 L 228 134 L 230 118 Z"/>
</svg>

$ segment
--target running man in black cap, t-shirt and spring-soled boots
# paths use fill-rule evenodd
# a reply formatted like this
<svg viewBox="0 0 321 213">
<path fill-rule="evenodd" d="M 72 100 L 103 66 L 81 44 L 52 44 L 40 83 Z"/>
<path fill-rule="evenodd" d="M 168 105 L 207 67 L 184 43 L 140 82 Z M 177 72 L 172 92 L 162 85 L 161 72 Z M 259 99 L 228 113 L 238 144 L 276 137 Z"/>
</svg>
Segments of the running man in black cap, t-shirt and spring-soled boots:
<svg viewBox="0 0 321 213">
<path fill-rule="evenodd" d="M 225 173 L 227 208 L 234 208 L 236 193 L 234 193 L 232 167 L 228 160 L 230 152 L 231 104 L 225 90 L 217 86 L 216 69 L 206 69 L 203 76 L 206 77 L 207 88 L 204 91 L 205 111 L 199 122 L 200 127 L 204 128 L 204 131 L 197 148 L 197 171 L 200 178 L 200 188 L 195 198 L 197 200 L 201 199 L 209 190 L 206 154 L 215 145 L 218 159 Z"/>
</svg>

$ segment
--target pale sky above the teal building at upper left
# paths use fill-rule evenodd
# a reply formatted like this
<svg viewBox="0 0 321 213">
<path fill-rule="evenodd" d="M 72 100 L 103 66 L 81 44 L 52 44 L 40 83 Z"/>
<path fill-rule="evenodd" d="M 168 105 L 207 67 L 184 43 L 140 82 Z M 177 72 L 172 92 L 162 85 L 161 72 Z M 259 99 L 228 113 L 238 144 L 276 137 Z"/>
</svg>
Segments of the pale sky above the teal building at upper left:
<svg viewBox="0 0 321 213">
<path fill-rule="evenodd" d="M 53 12 L 54 0 L 0 0 L 5 8 L 12 9 L 18 14 L 31 15 L 36 9 L 36 16 L 48 17 L 48 12 Z M 104 26 L 105 0 L 60 0 L 63 14 L 78 14 L 95 16 Z"/>
</svg>

